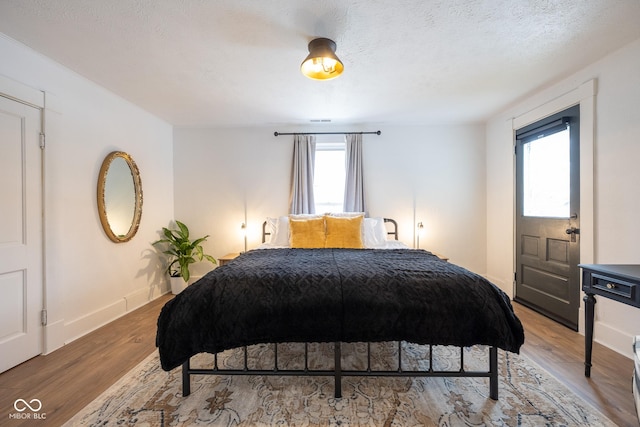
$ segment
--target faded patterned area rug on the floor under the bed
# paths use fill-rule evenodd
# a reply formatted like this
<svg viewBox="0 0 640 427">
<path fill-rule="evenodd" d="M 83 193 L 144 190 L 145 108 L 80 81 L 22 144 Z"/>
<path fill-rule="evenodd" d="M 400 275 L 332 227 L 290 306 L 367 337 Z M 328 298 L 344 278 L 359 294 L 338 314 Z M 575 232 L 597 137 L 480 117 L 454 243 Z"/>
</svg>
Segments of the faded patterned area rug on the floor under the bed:
<svg viewBox="0 0 640 427">
<path fill-rule="evenodd" d="M 428 368 L 429 347 L 402 344 L 402 368 Z M 372 344 L 373 369 L 397 369 L 398 346 Z M 460 349 L 434 347 L 434 369 L 459 369 Z M 273 345 L 249 347 L 248 366 L 270 369 Z M 467 370 L 486 370 L 486 347 L 464 349 Z M 278 368 L 303 365 L 302 344 L 278 346 Z M 366 367 L 365 344 L 343 344 L 343 369 Z M 242 367 L 241 350 L 218 356 Z M 615 426 L 528 358 L 498 352 L 499 400 L 486 378 L 343 377 L 340 399 L 331 377 L 193 376 L 182 396 L 181 370 L 164 372 L 157 353 L 67 422 L 68 426 Z M 210 367 L 211 355 L 192 358 Z M 309 367 L 330 369 L 332 344 L 309 345 Z"/>
</svg>

